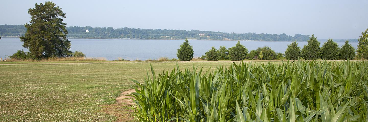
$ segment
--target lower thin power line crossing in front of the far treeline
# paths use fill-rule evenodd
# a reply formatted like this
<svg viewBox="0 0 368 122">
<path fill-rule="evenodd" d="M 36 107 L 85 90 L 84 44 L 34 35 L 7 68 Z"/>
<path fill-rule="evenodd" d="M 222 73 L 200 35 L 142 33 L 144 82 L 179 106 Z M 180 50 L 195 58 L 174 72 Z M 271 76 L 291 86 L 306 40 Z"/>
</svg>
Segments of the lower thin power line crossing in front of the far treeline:
<svg viewBox="0 0 368 122">
<path fill-rule="evenodd" d="M 1 33 L 1 34 L 38 34 L 38 35 L 64 35 L 64 34 L 42 34 L 42 33 Z M 113 36 L 132 36 L 132 35 L 197 35 L 202 33 L 196 34 L 67 34 L 67 35 L 113 35 Z M 203 34 L 226 34 L 226 33 L 203 33 Z"/>
</svg>

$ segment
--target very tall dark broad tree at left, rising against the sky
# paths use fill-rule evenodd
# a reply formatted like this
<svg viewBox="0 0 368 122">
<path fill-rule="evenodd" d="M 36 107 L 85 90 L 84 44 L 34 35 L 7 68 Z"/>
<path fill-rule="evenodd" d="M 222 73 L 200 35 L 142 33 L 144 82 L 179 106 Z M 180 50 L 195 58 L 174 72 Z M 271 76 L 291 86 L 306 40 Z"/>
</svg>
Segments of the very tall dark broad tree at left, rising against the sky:
<svg viewBox="0 0 368 122">
<path fill-rule="evenodd" d="M 66 38 L 68 34 L 66 23 L 61 19 L 66 16 L 59 6 L 55 7 L 51 1 L 46 1 L 45 4 L 36 3 L 35 8 L 28 10 L 28 14 L 31 15 L 31 21 L 30 24 L 24 25 L 27 32 L 20 39 L 32 57 L 42 59 L 71 55 L 71 44 Z"/>
</svg>

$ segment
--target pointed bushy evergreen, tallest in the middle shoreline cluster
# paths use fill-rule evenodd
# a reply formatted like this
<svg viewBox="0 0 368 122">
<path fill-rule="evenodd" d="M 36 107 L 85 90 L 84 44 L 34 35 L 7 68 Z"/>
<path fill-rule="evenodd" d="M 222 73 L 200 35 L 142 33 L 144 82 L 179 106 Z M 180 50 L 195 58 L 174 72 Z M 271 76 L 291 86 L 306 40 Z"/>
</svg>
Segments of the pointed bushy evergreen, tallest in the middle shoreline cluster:
<svg viewBox="0 0 368 122">
<path fill-rule="evenodd" d="M 230 60 L 244 60 L 247 57 L 248 49 L 240 44 L 240 41 L 229 49 Z"/>
</svg>

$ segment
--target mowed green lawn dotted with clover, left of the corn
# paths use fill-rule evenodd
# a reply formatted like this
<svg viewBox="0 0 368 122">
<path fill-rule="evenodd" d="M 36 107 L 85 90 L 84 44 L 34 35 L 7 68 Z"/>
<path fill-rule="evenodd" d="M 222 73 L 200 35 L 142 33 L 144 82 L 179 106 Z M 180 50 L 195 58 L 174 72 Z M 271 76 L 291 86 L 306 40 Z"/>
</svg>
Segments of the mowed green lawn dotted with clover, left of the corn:
<svg viewBox="0 0 368 122">
<path fill-rule="evenodd" d="M 149 62 L 57 63 L 61 64 L 0 65 L 1 122 L 116 121 L 133 118 L 132 111 L 127 111 L 126 107 L 109 105 L 116 104 L 116 97 L 121 92 L 134 88 L 130 79 L 143 81 L 146 71 L 151 70 Z M 151 64 L 156 73 L 176 67 L 176 62 Z M 198 66 L 207 70 L 220 64 L 229 66 L 231 62 L 178 62 L 181 69 Z M 106 109 L 121 110 L 106 112 Z M 117 117 L 120 113 L 123 116 Z"/>
</svg>

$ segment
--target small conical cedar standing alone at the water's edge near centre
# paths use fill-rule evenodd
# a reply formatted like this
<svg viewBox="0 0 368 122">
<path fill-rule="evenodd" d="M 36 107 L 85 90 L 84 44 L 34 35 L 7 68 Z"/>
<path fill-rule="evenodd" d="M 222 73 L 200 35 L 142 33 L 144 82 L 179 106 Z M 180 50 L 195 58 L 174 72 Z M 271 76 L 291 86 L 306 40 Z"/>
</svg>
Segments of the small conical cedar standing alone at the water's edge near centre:
<svg viewBox="0 0 368 122">
<path fill-rule="evenodd" d="M 176 55 L 180 61 L 190 61 L 193 59 L 194 51 L 193 47 L 189 45 L 188 39 L 185 39 L 185 42 L 180 45 Z"/>
</svg>

